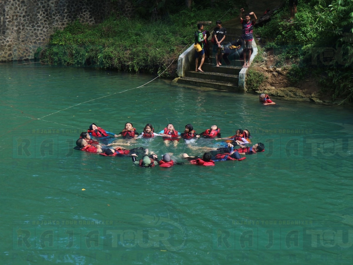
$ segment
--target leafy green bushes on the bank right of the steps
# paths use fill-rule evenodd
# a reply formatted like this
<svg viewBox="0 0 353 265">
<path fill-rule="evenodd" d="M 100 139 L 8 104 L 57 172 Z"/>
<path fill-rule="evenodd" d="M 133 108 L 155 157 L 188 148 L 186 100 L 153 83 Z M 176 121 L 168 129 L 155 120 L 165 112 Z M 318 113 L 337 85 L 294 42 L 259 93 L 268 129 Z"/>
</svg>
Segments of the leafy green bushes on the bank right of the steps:
<svg viewBox="0 0 353 265">
<path fill-rule="evenodd" d="M 294 20 L 285 5 L 264 27 L 256 29 L 264 48 L 278 58 L 276 67 L 288 67 L 295 85 L 315 78 L 321 96 L 353 101 L 353 2 L 300 1 Z"/>
</svg>

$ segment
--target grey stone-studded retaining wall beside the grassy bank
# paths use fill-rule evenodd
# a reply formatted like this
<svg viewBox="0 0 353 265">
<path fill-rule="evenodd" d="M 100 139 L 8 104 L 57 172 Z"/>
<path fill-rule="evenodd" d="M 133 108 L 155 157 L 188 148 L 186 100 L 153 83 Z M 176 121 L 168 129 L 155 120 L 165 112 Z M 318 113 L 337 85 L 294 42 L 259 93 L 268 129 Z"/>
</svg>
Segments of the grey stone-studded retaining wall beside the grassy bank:
<svg viewBox="0 0 353 265">
<path fill-rule="evenodd" d="M 113 11 L 129 17 L 129 0 L 1 0 L 0 61 L 33 59 L 56 29 L 79 19 L 100 23 Z M 116 12 L 117 13 L 117 12 Z"/>
</svg>

